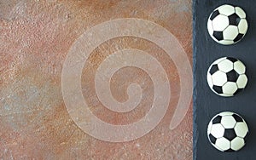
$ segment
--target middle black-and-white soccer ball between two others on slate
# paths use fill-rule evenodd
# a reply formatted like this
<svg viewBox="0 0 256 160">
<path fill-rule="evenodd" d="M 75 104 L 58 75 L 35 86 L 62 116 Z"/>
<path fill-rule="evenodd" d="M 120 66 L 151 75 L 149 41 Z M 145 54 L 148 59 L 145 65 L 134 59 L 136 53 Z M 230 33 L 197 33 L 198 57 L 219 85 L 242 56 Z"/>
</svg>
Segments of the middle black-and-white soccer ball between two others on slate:
<svg viewBox="0 0 256 160">
<path fill-rule="evenodd" d="M 215 60 L 207 71 L 207 83 L 215 94 L 233 96 L 247 85 L 246 66 L 231 57 Z"/>
</svg>

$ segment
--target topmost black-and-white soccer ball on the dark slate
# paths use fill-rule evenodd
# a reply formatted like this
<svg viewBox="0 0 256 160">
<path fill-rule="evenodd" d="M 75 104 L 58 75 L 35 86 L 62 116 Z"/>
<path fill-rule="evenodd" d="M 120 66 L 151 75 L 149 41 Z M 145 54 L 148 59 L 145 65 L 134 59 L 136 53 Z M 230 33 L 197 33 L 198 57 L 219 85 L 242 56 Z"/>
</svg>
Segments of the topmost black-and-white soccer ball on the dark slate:
<svg viewBox="0 0 256 160">
<path fill-rule="evenodd" d="M 246 13 L 240 7 L 224 4 L 209 16 L 207 28 L 217 43 L 237 43 L 247 33 Z"/>
</svg>

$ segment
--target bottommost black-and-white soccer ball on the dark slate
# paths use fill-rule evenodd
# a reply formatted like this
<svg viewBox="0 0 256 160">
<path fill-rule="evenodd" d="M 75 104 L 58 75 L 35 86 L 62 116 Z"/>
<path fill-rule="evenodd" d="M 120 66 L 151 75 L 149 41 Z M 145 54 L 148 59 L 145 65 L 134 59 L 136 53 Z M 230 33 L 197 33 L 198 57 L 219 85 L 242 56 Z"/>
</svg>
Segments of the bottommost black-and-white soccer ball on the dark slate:
<svg viewBox="0 0 256 160">
<path fill-rule="evenodd" d="M 207 135 L 212 146 L 219 151 L 238 151 L 245 146 L 249 130 L 238 114 L 224 111 L 212 118 Z"/>
</svg>

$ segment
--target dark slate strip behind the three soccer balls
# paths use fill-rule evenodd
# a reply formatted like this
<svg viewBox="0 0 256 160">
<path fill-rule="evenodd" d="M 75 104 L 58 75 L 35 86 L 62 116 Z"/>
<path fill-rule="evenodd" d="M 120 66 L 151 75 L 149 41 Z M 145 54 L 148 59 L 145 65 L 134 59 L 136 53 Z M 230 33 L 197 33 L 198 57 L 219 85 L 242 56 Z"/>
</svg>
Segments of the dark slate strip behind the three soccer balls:
<svg viewBox="0 0 256 160">
<path fill-rule="evenodd" d="M 215 43 L 207 32 L 207 19 L 213 9 L 224 3 L 240 6 L 247 13 L 249 29 L 240 43 L 230 46 Z M 256 1 L 194 0 L 194 159 L 256 159 Z M 207 69 L 223 56 L 235 57 L 247 66 L 247 88 L 231 98 L 214 94 L 207 85 Z M 241 151 L 221 152 L 207 140 L 207 124 L 221 111 L 234 111 L 245 118 L 249 127 L 247 144 Z"/>
</svg>

